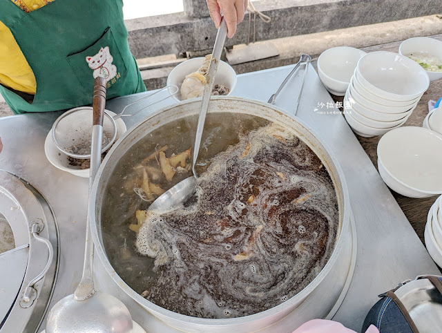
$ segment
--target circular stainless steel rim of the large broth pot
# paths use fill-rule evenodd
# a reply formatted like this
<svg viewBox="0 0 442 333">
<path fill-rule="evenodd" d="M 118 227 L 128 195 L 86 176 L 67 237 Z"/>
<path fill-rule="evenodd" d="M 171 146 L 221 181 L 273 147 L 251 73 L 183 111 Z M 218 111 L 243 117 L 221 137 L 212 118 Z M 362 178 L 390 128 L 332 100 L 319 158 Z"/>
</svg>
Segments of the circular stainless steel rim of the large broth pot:
<svg viewBox="0 0 442 333">
<path fill-rule="evenodd" d="M 347 183 L 345 182 L 344 173 L 340 167 L 340 164 L 338 163 L 338 160 L 336 160 L 336 157 L 332 153 L 329 146 L 320 138 L 320 135 L 315 133 L 311 129 L 311 127 L 308 124 L 306 124 L 304 121 L 300 120 L 300 118 L 298 118 L 294 115 L 290 115 L 290 113 L 283 110 L 282 108 L 278 108 L 277 106 L 270 105 L 265 102 L 257 101 L 256 99 L 248 99 L 248 98 L 243 98 L 243 97 L 216 96 L 216 97 L 212 97 L 212 100 L 213 101 L 224 100 L 226 102 L 227 101 L 248 102 L 251 104 L 256 104 L 256 106 L 270 108 L 278 113 L 281 113 L 282 115 L 288 116 L 289 118 L 291 118 L 295 122 L 298 122 L 298 124 L 300 124 L 307 131 L 309 131 L 312 135 L 314 135 L 314 137 L 316 137 L 316 140 L 318 140 L 318 142 L 324 147 L 325 151 L 329 155 L 329 158 L 332 160 L 334 167 L 336 168 L 336 171 L 338 173 L 338 180 L 340 181 L 340 184 L 342 187 L 343 202 L 346 203 L 343 205 L 344 211 L 342 214 L 342 219 L 340 220 L 340 222 L 342 223 L 340 233 L 338 235 L 338 238 L 336 239 L 336 242 L 335 242 L 336 245 L 335 245 L 335 248 L 334 248 L 329 260 L 327 261 L 327 263 L 325 264 L 323 269 L 319 272 L 319 274 L 313 280 L 311 280 L 311 282 L 304 289 L 302 289 L 300 292 L 298 292 L 298 294 L 292 296 L 291 298 L 289 298 L 287 301 L 281 303 L 280 305 L 276 305 L 275 307 L 271 307 L 269 310 L 265 310 L 263 312 L 258 312 L 256 314 L 251 314 L 249 316 L 242 316 L 242 317 L 237 317 L 237 318 L 220 318 L 220 319 L 197 318 L 197 317 L 192 317 L 192 316 L 186 316 L 184 314 L 179 314 L 177 312 L 172 312 L 170 310 L 165 309 L 164 307 L 160 307 L 159 305 L 156 305 L 155 303 L 152 303 L 152 302 L 146 300 L 146 298 L 142 297 L 140 294 L 135 292 L 131 287 L 129 287 L 129 285 L 126 284 L 126 282 L 117 274 L 117 272 L 115 272 L 115 269 L 112 267 L 111 263 L 109 262 L 109 260 L 106 256 L 106 251 L 104 250 L 104 247 L 102 246 L 102 241 L 101 241 L 101 237 L 100 237 L 101 231 L 98 230 L 97 216 L 95 213 L 95 201 L 97 200 L 97 191 L 99 188 L 99 180 L 102 177 L 102 173 L 103 173 L 104 169 L 106 168 L 106 165 L 108 164 L 108 160 L 111 159 L 113 152 L 116 149 L 118 149 L 119 145 L 126 139 L 126 137 L 131 135 L 131 133 L 133 133 L 133 131 L 138 126 L 142 126 L 142 124 L 144 124 L 144 122 L 150 120 L 152 117 L 155 117 L 156 115 L 159 115 L 160 113 L 163 113 L 165 111 L 169 111 L 171 108 L 175 108 L 177 106 L 182 106 L 184 104 L 199 103 L 200 102 L 199 99 L 189 99 L 184 102 L 179 102 L 177 104 L 173 104 L 171 106 L 166 106 L 164 108 L 161 108 L 160 110 L 155 111 L 151 115 L 148 115 L 148 117 L 146 117 L 146 119 L 143 120 L 142 122 L 132 126 L 131 129 L 128 129 L 128 131 L 126 131 L 126 133 L 124 133 L 124 135 L 119 138 L 119 140 L 113 145 L 113 147 L 111 148 L 109 153 L 106 155 L 106 158 L 104 158 L 104 161 L 102 162 L 102 164 L 99 168 L 99 171 L 97 173 L 97 177 L 95 178 L 95 182 L 93 184 L 92 192 L 90 195 L 90 200 L 88 203 L 91 206 L 89 218 L 91 221 L 90 229 L 92 232 L 93 241 L 95 243 L 95 250 L 97 251 L 97 254 L 98 254 L 100 260 L 102 261 L 102 264 L 104 265 L 108 274 L 111 275 L 113 280 L 115 280 L 115 283 L 117 283 L 117 285 L 119 285 L 124 290 L 124 292 L 126 292 L 126 294 L 128 294 L 128 296 L 131 296 L 131 298 L 133 298 L 135 301 L 137 301 L 137 303 L 139 303 L 140 305 L 141 304 L 144 305 L 151 312 L 155 312 L 155 313 L 159 314 L 160 316 L 166 316 L 166 317 L 173 316 L 173 318 L 175 318 L 175 320 L 177 320 L 177 321 L 184 321 L 186 323 L 193 323 L 193 325 L 202 325 L 202 326 L 216 325 L 216 326 L 229 327 L 230 325 L 239 325 L 241 323 L 249 323 L 250 321 L 258 321 L 260 319 L 264 319 L 269 316 L 276 315 L 280 312 L 284 312 L 285 310 L 287 310 L 287 308 L 291 307 L 292 304 L 305 299 L 319 285 L 319 283 L 325 278 L 325 276 L 327 276 L 330 269 L 332 269 L 334 263 L 336 262 L 336 259 L 338 258 L 338 255 L 340 254 L 340 250 L 343 247 L 343 242 L 341 241 L 341 239 L 343 238 L 343 234 L 348 231 L 349 224 L 350 224 L 349 196 L 348 196 Z M 308 142 L 306 142 L 306 143 L 308 144 Z M 316 153 L 316 151 L 315 151 L 315 153 Z"/>
</svg>

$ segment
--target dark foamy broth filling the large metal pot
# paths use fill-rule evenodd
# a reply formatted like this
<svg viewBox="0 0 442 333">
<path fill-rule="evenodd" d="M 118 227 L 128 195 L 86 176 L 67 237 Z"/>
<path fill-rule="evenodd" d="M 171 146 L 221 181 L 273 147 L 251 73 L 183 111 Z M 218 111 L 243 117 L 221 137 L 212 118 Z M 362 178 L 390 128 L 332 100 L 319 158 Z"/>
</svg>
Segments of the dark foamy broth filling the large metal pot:
<svg viewBox="0 0 442 333">
<path fill-rule="evenodd" d="M 147 135 L 117 164 L 102 209 L 104 246 L 119 276 L 161 307 L 200 318 L 247 316 L 287 301 L 323 269 L 338 202 L 323 163 L 293 133 L 249 115 L 209 116 L 195 196 L 173 211 L 144 210 L 155 189 L 191 175 L 195 117 Z M 169 150 L 183 151 L 169 153 L 172 166 L 181 161 L 171 181 L 148 166 L 163 165 Z"/>
</svg>

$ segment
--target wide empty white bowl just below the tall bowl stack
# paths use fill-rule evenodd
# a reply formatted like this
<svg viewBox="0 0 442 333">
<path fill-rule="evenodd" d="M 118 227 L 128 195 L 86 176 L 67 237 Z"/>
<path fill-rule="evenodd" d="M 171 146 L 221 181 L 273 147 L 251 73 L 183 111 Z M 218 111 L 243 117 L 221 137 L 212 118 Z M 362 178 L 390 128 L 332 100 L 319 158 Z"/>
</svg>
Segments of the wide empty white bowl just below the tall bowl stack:
<svg viewBox="0 0 442 333">
<path fill-rule="evenodd" d="M 378 169 L 390 189 L 410 198 L 442 193 L 442 135 L 406 126 L 378 143 Z"/>
</svg>

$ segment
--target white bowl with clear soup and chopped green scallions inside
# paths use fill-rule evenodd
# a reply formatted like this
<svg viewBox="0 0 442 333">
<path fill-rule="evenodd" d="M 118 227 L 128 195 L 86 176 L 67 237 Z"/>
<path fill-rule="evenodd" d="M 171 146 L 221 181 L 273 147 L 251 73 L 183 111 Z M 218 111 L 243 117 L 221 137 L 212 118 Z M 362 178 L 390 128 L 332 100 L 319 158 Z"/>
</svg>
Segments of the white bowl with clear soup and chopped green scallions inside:
<svg viewBox="0 0 442 333">
<path fill-rule="evenodd" d="M 410 38 L 399 46 L 399 54 L 421 65 L 430 81 L 442 78 L 442 41 L 430 37 Z"/>
</svg>

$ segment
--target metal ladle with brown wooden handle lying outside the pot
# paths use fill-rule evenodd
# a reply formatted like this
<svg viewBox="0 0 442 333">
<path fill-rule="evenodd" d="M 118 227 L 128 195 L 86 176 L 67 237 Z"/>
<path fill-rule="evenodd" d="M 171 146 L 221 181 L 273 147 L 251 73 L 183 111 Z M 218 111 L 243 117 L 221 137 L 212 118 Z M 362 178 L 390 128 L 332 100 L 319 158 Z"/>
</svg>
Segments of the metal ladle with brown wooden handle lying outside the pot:
<svg viewBox="0 0 442 333">
<path fill-rule="evenodd" d="M 93 97 L 89 193 L 101 162 L 105 104 L 106 80 L 97 77 Z M 118 298 L 110 294 L 97 292 L 94 289 L 94 243 L 90 234 L 89 216 L 88 212 L 83 276 L 74 294 L 62 298 L 50 310 L 46 323 L 46 333 L 132 331 L 133 321 L 126 305 Z"/>
</svg>

